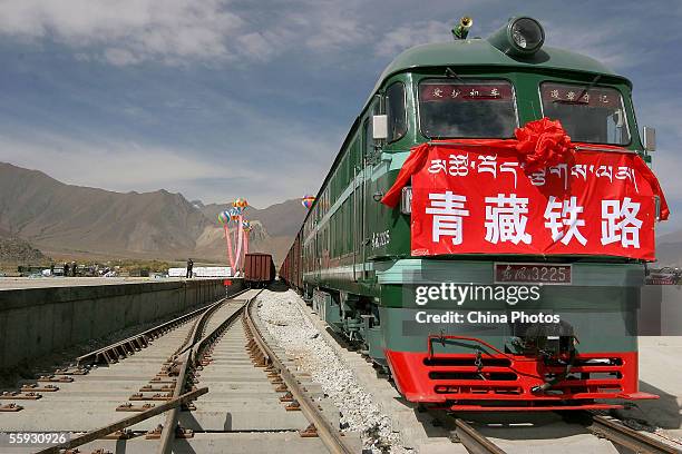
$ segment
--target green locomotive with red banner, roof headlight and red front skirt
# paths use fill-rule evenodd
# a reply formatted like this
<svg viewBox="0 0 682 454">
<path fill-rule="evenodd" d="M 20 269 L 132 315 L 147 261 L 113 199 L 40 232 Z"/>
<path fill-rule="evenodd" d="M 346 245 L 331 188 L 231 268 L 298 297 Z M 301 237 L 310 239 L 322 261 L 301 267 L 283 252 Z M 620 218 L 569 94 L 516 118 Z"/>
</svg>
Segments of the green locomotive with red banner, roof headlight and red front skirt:
<svg viewBox="0 0 682 454">
<path fill-rule="evenodd" d="M 400 393 L 457 411 L 585 409 L 637 388 L 654 224 L 632 83 L 512 18 L 400 53 L 353 122 L 281 278 Z"/>
</svg>

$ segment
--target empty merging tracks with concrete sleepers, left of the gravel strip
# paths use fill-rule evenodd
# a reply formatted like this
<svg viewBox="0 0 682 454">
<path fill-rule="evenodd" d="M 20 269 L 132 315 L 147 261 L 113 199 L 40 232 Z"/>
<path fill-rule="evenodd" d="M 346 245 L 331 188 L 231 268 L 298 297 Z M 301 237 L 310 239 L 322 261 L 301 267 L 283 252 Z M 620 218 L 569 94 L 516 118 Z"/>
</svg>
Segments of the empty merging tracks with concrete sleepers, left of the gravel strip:
<svg viewBox="0 0 682 454">
<path fill-rule="evenodd" d="M 0 452 L 360 452 L 359 437 L 341 436 L 338 409 L 319 386 L 269 345 L 252 308 L 256 295 L 247 290 L 20 383 L 0 401 L 22 407 L 0 412 L 1 431 L 69 441 L 3 444 Z"/>
</svg>

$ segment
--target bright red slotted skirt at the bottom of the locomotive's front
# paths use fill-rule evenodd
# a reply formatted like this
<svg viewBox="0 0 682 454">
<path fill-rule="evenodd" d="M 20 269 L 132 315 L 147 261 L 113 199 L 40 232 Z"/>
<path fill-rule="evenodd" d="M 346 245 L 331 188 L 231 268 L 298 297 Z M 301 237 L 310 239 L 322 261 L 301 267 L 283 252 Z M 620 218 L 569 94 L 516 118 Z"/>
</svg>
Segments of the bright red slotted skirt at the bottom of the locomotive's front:
<svg viewBox="0 0 682 454">
<path fill-rule="evenodd" d="M 532 389 L 564 373 L 564 367 L 506 354 L 481 357 L 480 366 L 475 355 L 391 351 L 386 355 L 398 388 L 411 402 L 456 402 L 456 408 L 464 408 L 488 399 L 534 405 L 584 401 L 587 405 L 598 398 L 657 397 L 637 392 L 636 352 L 578 354 L 565 379 L 537 393 Z"/>
</svg>

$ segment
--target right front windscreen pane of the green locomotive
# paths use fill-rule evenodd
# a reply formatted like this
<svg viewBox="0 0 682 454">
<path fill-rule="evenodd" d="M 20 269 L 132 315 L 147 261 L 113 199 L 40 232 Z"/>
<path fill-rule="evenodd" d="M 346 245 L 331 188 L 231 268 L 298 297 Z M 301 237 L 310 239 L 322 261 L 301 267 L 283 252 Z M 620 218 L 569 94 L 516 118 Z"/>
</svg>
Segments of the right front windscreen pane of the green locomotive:
<svg viewBox="0 0 682 454">
<path fill-rule="evenodd" d="M 630 144 L 621 92 L 607 87 L 568 83 L 540 85 L 543 115 L 559 120 L 574 141 Z"/>
</svg>

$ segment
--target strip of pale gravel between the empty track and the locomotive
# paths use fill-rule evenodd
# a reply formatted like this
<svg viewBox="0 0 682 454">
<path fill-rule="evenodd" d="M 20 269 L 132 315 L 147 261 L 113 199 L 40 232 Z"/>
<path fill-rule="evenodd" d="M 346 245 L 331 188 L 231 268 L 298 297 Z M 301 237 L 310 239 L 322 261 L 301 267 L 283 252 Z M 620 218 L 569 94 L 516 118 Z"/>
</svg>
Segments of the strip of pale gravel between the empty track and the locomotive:
<svg viewBox="0 0 682 454">
<path fill-rule="evenodd" d="M 352 368 L 320 336 L 303 314 L 293 290 L 264 290 L 257 297 L 259 316 L 270 335 L 320 384 L 341 412 L 341 428 L 362 434 L 363 448 L 372 453 L 407 453 L 400 436 L 381 413 L 372 395 L 358 383 Z"/>
</svg>

